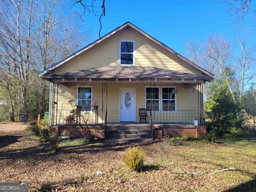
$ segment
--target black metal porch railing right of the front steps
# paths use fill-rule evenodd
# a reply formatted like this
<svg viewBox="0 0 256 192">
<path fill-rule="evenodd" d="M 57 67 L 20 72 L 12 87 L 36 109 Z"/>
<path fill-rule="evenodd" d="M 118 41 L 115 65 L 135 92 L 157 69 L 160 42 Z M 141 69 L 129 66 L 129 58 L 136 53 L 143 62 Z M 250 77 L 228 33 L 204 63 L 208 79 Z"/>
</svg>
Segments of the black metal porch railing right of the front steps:
<svg viewBox="0 0 256 192">
<path fill-rule="evenodd" d="M 151 115 L 153 124 L 194 124 L 194 121 L 198 121 L 198 125 L 202 123 L 199 110 L 166 111 L 161 109 L 151 111 Z"/>
</svg>

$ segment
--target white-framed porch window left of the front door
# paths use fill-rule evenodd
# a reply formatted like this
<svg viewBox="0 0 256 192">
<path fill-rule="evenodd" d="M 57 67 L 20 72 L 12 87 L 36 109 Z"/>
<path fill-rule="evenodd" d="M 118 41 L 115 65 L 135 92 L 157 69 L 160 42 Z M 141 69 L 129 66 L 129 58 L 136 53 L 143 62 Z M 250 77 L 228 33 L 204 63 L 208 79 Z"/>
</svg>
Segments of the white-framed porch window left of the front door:
<svg viewBox="0 0 256 192">
<path fill-rule="evenodd" d="M 92 87 L 78 87 L 77 105 L 82 111 L 91 111 Z"/>
</svg>

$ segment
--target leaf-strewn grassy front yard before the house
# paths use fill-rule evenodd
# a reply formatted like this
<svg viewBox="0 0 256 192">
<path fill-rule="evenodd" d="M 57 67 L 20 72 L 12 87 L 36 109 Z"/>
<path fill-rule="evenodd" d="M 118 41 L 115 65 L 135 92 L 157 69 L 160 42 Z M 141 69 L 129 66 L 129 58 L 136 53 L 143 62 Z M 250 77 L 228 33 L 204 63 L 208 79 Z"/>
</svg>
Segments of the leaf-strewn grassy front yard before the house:
<svg viewBox="0 0 256 192">
<path fill-rule="evenodd" d="M 183 141 L 183 146 L 73 140 L 53 154 L 25 127 L 0 124 L 0 181 L 29 182 L 32 191 L 256 191 L 256 140 Z M 138 145 L 146 164 L 140 173 L 122 162 L 125 148 Z M 209 174 L 229 167 L 237 171 Z"/>
</svg>

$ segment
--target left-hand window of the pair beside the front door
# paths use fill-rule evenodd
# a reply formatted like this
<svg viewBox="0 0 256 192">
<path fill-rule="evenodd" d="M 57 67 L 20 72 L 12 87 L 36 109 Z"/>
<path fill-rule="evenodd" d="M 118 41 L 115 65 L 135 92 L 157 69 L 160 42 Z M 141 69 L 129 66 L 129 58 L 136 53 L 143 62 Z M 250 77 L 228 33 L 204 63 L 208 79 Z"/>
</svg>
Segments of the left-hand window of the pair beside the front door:
<svg viewBox="0 0 256 192">
<path fill-rule="evenodd" d="M 159 88 L 158 87 L 146 87 L 146 109 L 147 111 L 159 110 Z"/>
</svg>

